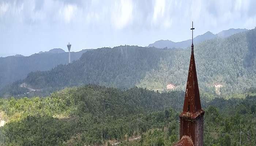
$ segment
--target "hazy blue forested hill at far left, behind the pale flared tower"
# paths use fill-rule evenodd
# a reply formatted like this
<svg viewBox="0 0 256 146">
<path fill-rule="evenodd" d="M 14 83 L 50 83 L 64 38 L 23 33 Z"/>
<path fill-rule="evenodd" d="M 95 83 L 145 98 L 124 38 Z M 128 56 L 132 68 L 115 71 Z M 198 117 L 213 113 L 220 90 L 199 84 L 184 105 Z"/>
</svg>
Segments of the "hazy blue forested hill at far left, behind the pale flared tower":
<svg viewBox="0 0 256 146">
<path fill-rule="evenodd" d="M 71 52 L 71 60 L 75 61 L 87 50 Z M 68 53 L 62 49 L 52 49 L 28 57 L 22 55 L 0 57 L 0 89 L 16 80 L 24 79 L 28 73 L 45 71 L 59 64 L 68 63 Z"/>
</svg>

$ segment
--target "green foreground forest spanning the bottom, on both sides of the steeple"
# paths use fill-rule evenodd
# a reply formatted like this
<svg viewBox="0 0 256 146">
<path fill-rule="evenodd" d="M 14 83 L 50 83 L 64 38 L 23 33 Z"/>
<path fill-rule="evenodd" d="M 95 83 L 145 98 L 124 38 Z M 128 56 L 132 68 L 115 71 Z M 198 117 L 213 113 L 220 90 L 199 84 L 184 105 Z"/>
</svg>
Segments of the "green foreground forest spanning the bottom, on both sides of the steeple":
<svg viewBox="0 0 256 146">
<path fill-rule="evenodd" d="M 200 92 L 204 145 L 256 145 L 256 91 L 244 99 Z M 0 146 L 172 146 L 184 92 L 98 85 L 65 88 L 47 97 L 0 99 Z M 241 132 L 242 131 L 242 132 Z M 241 132 L 241 134 L 240 134 Z"/>
</svg>

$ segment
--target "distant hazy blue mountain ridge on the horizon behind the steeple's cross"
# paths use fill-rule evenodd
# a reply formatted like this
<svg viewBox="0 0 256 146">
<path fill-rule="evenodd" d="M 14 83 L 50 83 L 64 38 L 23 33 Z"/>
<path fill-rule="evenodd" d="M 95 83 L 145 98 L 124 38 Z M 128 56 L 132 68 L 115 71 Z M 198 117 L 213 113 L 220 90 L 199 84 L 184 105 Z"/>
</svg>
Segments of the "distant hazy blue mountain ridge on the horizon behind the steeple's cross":
<svg viewBox="0 0 256 146">
<path fill-rule="evenodd" d="M 229 30 L 223 30 L 221 32 L 219 32 L 218 34 L 212 34 L 212 32 L 207 31 L 206 33 L 202 34 L 202 35 L 198 35 L 193 39 L 194 44 L 196 43 L 201 43 L 203 41 L 209 40 L 209 39 L 213 39 L 216 37 L 221 37 L 221 38 L 226 38 L 229 37 L 233 34 L 237 34 L 239 32 L 243 32 L 246 31 L 246 29 L 234 29 L 231 28 Z M 181 41 L 181 42 L 173 42 L 173 41 L 169 41 L 169 40 L 160 40 L 160 41 L 156 41 L 152 44 L 149 44 L 148 47 L 157 47 L 157 48 L 185 48 L 191 45 L 191 39 L 187 40 L 187 41 Z"/>
</svg>

